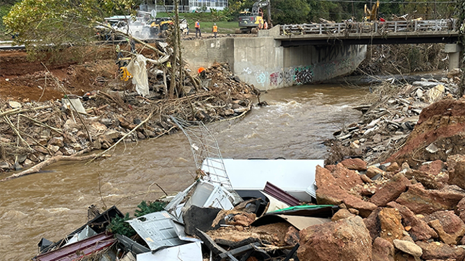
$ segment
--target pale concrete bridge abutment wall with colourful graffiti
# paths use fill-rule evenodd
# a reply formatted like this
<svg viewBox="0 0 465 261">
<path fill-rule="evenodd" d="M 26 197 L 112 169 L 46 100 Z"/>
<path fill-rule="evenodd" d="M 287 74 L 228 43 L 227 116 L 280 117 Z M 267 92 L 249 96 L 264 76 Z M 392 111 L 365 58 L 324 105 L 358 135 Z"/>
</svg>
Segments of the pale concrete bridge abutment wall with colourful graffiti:
<svg viewBox="0 0 465 261">
<path fill-rule="evenodd" d="M 282 47 L 274 34 L 269 30 L 260 31 L 259 37 L 184 41 L 182 57 L 192 71 L 210 67 L 214 62 L 228 62 L 235 75 L 260 90 L 317 83 L 350 74 L 365 59 L 366 45 Z"/>
</svg>

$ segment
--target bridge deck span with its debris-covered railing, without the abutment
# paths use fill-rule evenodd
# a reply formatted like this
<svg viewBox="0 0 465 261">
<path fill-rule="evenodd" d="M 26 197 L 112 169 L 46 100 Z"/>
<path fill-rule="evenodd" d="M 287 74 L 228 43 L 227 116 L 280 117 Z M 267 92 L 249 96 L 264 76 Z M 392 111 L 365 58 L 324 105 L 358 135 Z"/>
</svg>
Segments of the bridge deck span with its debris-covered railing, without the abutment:
<svg viewBox="0 0 465 261">
<path fill-rule="evenodd" d="M 409 20 L 390 22 L 344 22 L 335 24 L 289 24 L 279 26 L 283 47 L 333 44 L 423 44 L 457 42 L 457 20 Z"/>
</svg>

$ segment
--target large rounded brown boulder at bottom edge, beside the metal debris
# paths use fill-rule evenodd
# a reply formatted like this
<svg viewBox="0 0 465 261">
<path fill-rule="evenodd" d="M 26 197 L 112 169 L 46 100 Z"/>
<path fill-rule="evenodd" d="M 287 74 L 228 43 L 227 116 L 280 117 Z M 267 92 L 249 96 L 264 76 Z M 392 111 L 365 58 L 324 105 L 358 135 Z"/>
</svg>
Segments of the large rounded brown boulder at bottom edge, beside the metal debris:
<svg viewBox="0 0 465 261">
<path fill-rule="evenodd" d="M 372 260 L 372 239 L 358 216 L 301 230 L 299 244 L 299 260 Z"/>
</svg>

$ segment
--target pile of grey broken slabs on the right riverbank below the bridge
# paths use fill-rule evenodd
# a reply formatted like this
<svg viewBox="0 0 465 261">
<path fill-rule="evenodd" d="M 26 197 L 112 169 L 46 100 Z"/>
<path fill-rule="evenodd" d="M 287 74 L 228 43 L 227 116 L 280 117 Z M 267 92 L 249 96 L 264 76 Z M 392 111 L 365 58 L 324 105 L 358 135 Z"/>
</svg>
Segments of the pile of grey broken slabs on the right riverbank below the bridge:
<svg viewBox="0 0 465 261">
<path fill-rule="evenodd" d="M 367 162 L 383 162 L 407 140 L 419 120 L 420 112 L 445 97 L 453 99 L 458 93 L 460 71 L 451 71 L 441 81 L 425 80 L 412 84 L 385 83 L 370 87 L 371 105 L 354 109 L 363 113 L 361 122 L 350 124 L 333 133 L 326 142 L 333 146 L 333 154 L 326 163 L 334 164 L 341 156 L 362 157 Z"/>
</svg>

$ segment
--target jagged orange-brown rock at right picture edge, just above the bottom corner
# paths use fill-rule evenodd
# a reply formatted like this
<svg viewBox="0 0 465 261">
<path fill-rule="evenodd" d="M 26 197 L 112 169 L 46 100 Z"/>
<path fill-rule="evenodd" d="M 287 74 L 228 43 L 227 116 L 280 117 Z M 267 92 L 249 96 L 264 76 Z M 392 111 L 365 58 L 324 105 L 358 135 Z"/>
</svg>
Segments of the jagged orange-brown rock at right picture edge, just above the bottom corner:
<svg viewBox="0 0 465 261">
<path fill-rule="evenodd" d="M 457 244 L 465 235 L 465 224 L 453 211 L 438 211 L 425 217 L 439 238 L 446 244 Z"/>
</svg>

